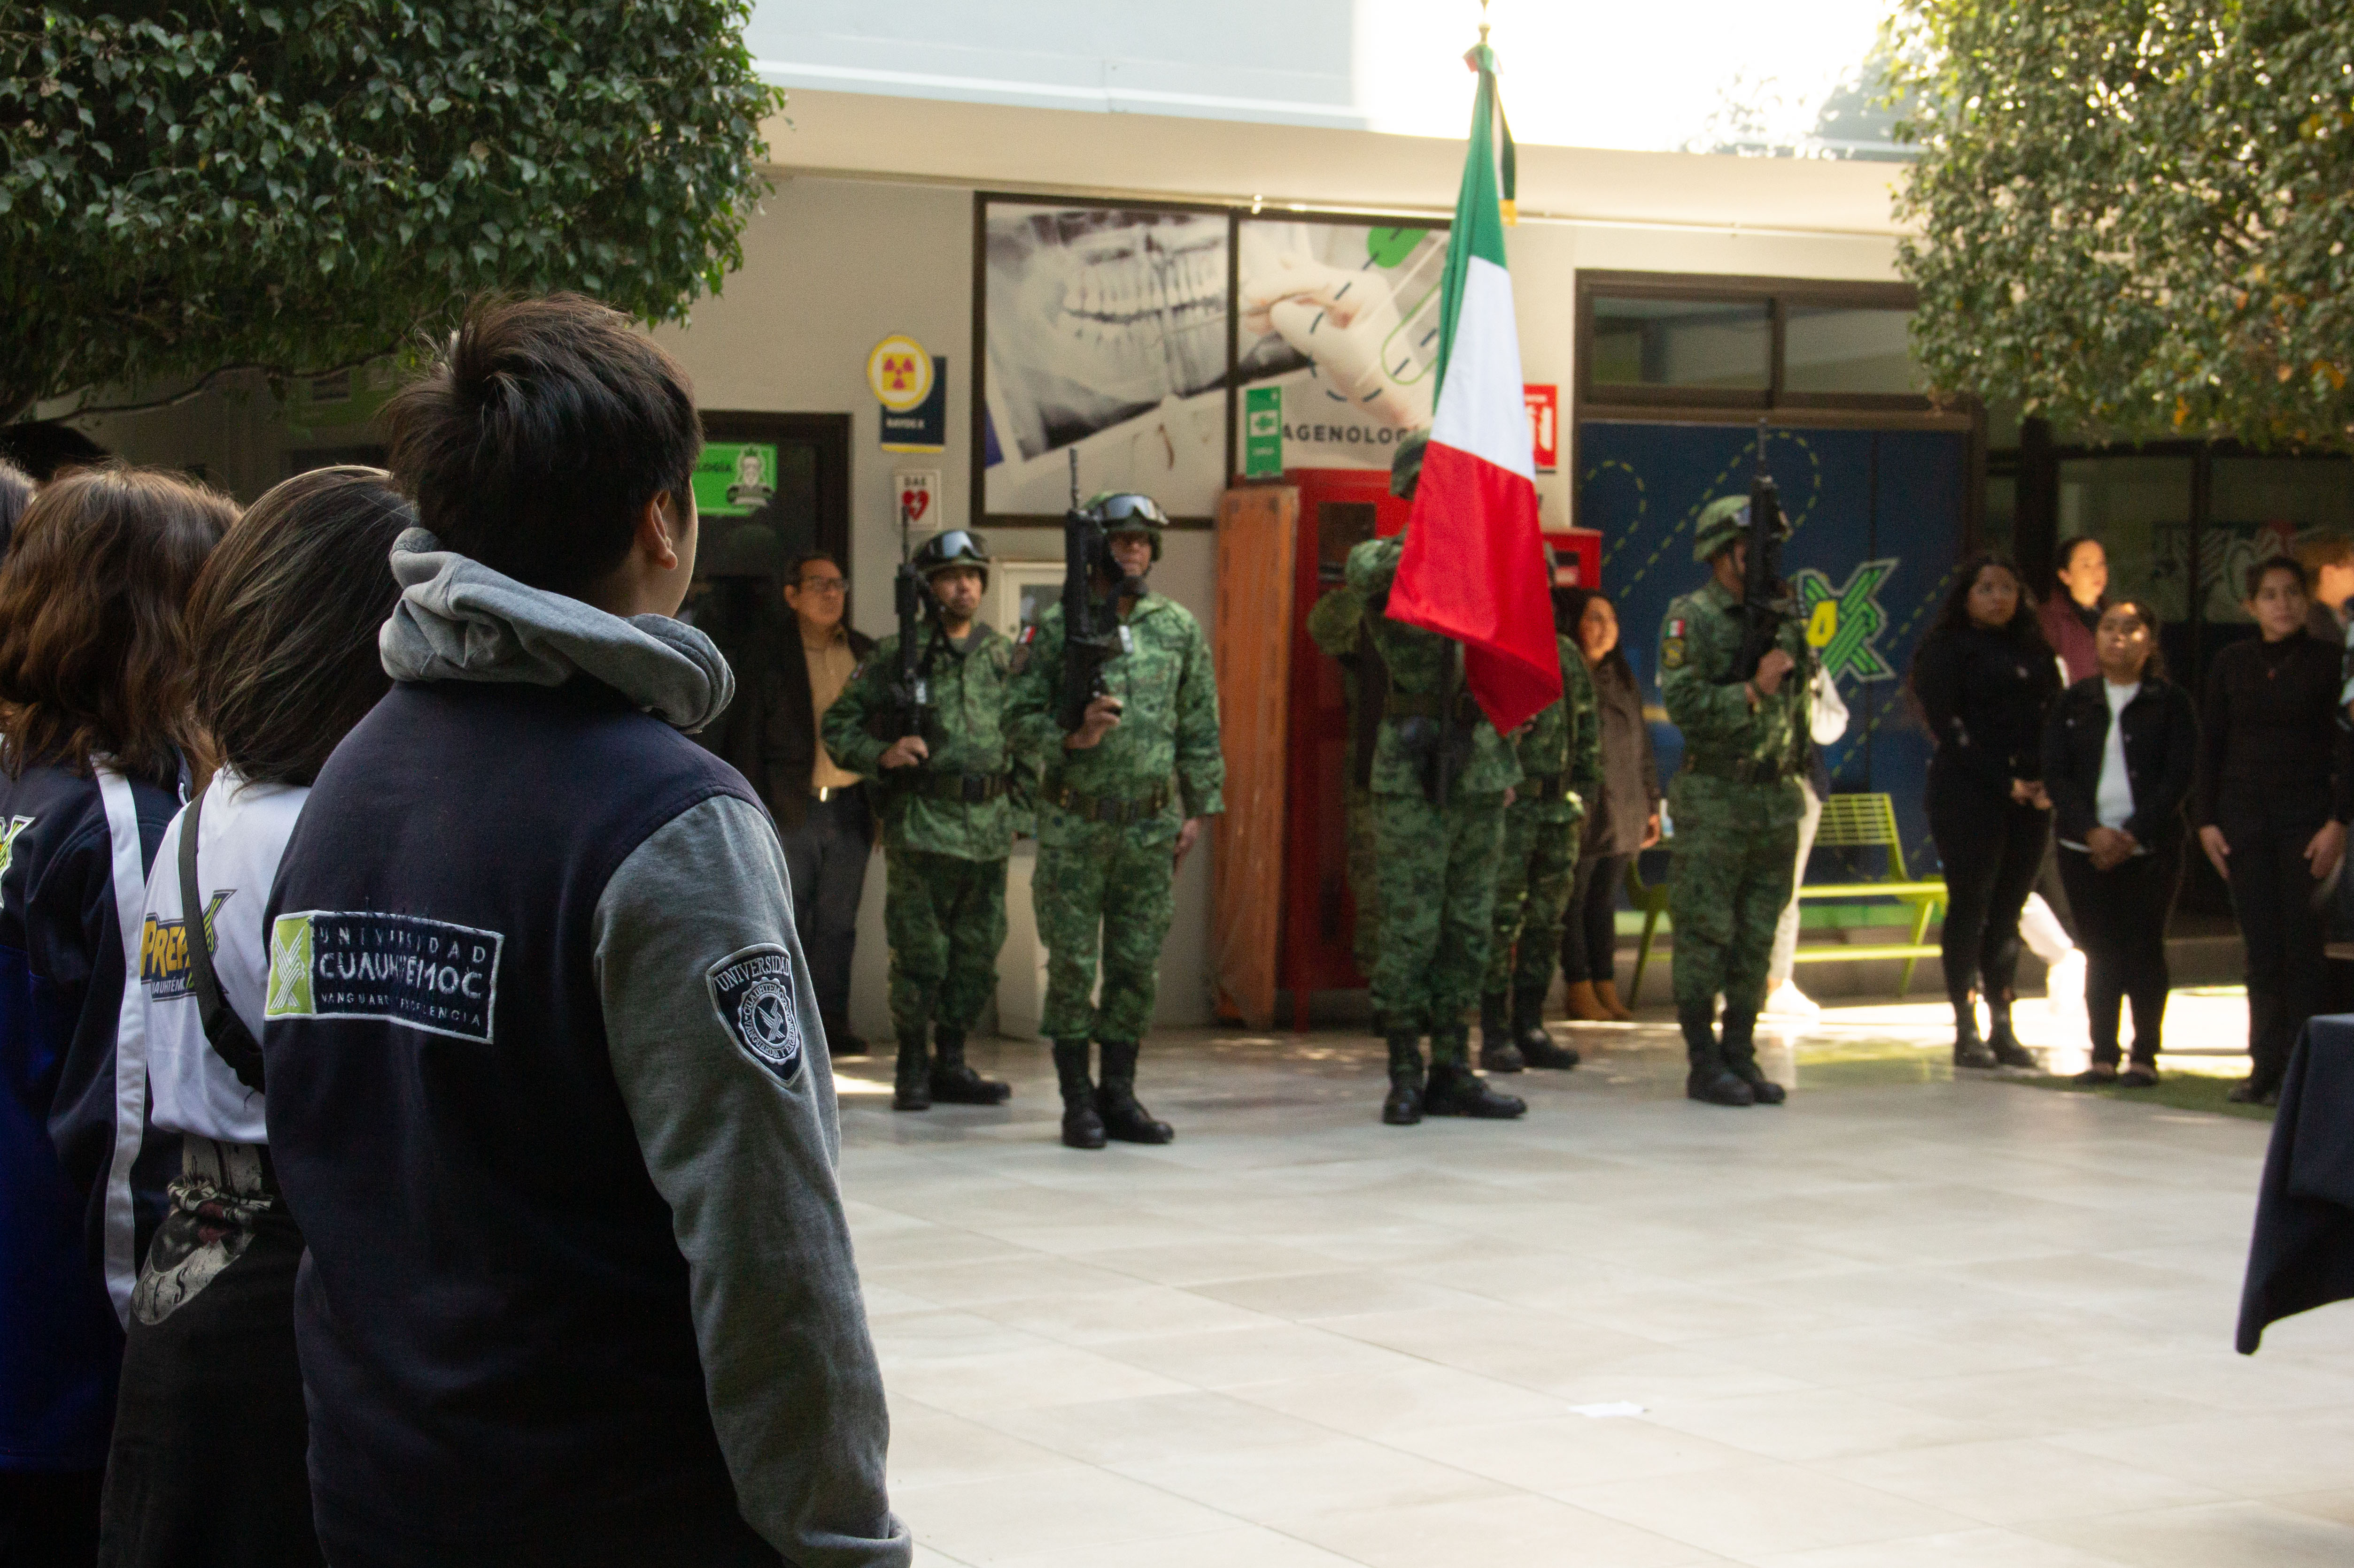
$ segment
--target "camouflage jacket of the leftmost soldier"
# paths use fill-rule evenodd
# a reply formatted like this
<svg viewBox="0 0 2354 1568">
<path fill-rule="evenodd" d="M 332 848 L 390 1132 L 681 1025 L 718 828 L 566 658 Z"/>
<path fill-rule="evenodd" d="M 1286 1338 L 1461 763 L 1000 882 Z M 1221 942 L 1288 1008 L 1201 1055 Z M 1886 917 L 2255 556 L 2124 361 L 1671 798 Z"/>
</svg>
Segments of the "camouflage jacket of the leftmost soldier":
<svg viewBox="0 0 2354 1568">
<path fill-rule="evenodd" d="M 826 710 L 824 736 L 833 762 L 873 778 L 887 849 L 920 849 L 958 860 L 1003 860 L 1015 835 L 1031 830 L 1031 766 L 1015 766 L 1005 743 L 1005 686 L 1015 644 L 979 625 L 979 637 L 958 654 L 937 625 L 925 628 L 925 672 L 932 682 L 930 759 L 911 769 L 885 769 L 883 752 L 899 741 L 878 736 L 876 719 L 890 710 L 899 672 L 899 639 L 885 637 L 859 661 L 850 684 Z M 883 724 L 883 729 L 897 729 Z M 932 790 L 963 773 L 1005 776 L 1003 795 L 984 802 L 946 799 Z"/>
</svg>

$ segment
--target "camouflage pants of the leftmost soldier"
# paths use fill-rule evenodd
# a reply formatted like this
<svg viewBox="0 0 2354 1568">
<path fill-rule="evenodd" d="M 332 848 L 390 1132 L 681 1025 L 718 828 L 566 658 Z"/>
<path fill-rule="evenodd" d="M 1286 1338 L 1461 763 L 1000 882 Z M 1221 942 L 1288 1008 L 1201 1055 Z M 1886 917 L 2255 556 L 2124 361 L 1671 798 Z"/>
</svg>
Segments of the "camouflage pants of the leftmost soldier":
<svg viewBox="0 0 2354 1568">
<path fill-rule="evenodd" d="M 1005 945 L 1005 860 L 883 851 L 883 936 L 890 943 L 890 1023 L 970 1030 L 998 987 Z"/>
</svg>

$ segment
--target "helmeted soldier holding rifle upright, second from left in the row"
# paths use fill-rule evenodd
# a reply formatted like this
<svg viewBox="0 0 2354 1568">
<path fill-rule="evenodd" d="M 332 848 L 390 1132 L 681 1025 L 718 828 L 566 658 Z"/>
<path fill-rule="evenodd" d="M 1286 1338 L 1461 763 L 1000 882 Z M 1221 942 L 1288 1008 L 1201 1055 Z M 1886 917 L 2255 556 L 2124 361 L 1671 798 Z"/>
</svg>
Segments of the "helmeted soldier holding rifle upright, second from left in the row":
<svg viewBox="0 0 2354 1568">
<path fill-rule="evenodd" d="M 1048 604 L 1022 628 L 1005 729 L 1036 757 L 1038 872 L 1031 898 L 1048 950 L 1040 1030 L 1055 1041 L 1062 1140 L 1099 1150 L 1106 1138 L 1168 1143 L 1175 1131 L 1137 1103 L 1137 1041 L 1153 1020 L 1156 969 L 1170 929 L 1177 863 L 1203 818 L 1226 809 L 1217 750 L 1217 679 L 1210 642 L 1182 604 L 1144 588 L 1161 559 L 1168 517 L 1151 496 L 1097 496 L 1088 508 L 1123 574 L 1118 618 L 1128 651 L 1104 663 L 1106 696 L 1064 733 L 1059 722 L 1064 621 Z M 1097 592 L 1113 583 L 1099 581 Z M 1132 590 L 1132 592 L 1130 592 Z M 1102 1006 L 1095 990 L 1102 933 Z M 1102 1051 L 1090 1079 L 1088 1041 Z"/>
</svg>

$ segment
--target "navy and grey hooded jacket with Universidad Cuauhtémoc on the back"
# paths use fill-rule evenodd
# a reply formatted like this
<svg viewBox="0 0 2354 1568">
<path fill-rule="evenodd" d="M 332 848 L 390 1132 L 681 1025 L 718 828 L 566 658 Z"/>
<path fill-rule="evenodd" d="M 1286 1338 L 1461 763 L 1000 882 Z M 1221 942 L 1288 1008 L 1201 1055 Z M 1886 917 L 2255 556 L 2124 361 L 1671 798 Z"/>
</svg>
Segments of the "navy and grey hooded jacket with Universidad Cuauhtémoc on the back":
<svg viewBox="0 0 2354 1568">
<path fill-rule="evenodd" d="M 711 642 L 410 529 L 271 896 L 337 1563 L 899 1566 L 784 853 Z"/>
</svg>

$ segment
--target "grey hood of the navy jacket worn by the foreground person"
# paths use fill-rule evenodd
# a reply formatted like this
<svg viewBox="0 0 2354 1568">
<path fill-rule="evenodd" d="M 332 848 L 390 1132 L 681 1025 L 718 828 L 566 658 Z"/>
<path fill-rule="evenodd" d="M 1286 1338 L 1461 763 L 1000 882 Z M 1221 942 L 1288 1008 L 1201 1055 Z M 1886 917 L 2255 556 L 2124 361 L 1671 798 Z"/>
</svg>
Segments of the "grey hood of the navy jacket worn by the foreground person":
<svg viewBox="0 0 2354 1568">
<path fill-rule="evenodd" d="M 443 550 L 426 529 L 405 529 L 393 541 L 393 581 L 400 604 L 377 635 L 384 672 L 393 679 L 563 686 L 588 675 L 687 733 L 734 698 L 727 661 L 685 621 L 624 621 L 560 592 L 525 588 Z"/>
</svg>

